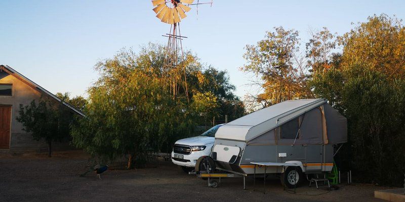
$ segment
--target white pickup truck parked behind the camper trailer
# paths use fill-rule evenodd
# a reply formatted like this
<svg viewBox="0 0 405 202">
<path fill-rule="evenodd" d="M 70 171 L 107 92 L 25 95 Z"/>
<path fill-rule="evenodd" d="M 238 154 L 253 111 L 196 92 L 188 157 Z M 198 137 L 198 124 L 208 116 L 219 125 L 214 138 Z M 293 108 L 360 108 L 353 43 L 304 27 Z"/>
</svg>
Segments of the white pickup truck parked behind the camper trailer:
<svg viewBox="0 0 405 202">
<path fill-rule="evenodd" d="M 215 133 L 222 125 L 216 125 L 199 136 L 177 140 L 172 151 L 172 162 L 181 166 L 184 172 L 194 170 L 198 158 L 210 155 Z"/>
</svg>

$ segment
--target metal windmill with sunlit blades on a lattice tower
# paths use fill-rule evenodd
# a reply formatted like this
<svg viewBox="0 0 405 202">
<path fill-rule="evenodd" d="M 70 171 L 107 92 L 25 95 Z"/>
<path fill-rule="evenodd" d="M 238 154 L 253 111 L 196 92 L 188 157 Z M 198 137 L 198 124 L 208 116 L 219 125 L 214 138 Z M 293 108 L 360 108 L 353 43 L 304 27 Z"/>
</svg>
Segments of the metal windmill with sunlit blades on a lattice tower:
<svg viewBox="0 0 405 202">
<path fill-rule="evenodd" d="M 188 99 L 188 89 L 187 89 L 187 76 L 186 68 L 184 66 L 184 53 L 183 45 L 181 41 L 185 36 L 181 35 L 180 32 L 180 21 L 187 17 L 185 13 L 189 12 L 191 8 L 190 5 L 197 6 L 201 4 L 211 4 L 211 3 L 199 3 L 197 0 L 196 4 L 193 4 L 194 0 L 153 0 L 152 4 L 154 6 L 153 11 L 156 13 L 156 17 L 160 19 L 161 22 L 170 24 L 169 34 L 163 35 L 168 37 L 168 44 L 166 47 L 165 61 L 163 65 L 162 77 L 164 81 L 164 86 L 173 94 L 175 98 L 181 88 L 184 90 L 185 95 Z"/>
</svg>

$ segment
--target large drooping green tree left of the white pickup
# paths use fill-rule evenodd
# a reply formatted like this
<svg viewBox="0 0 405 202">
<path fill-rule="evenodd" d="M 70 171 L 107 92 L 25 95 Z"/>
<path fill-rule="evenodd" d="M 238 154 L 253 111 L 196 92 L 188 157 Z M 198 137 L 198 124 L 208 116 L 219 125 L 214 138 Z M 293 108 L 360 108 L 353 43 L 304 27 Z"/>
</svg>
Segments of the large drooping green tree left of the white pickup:
<svg viewBox="0 0 405 202">
<path fill-rule="evenodd" d="M 103 161 L 127 155 L 129 169 L 134 162 L 142 166 L 148 153 L 192 126 L 187 106 L 164 90 L 153 67 L 138 68 L 136 59 L 119 53 L 97 64 L 101 76 L 88 91 L 88 119 L 72 131 L 77 147 Z"/>
</svg>

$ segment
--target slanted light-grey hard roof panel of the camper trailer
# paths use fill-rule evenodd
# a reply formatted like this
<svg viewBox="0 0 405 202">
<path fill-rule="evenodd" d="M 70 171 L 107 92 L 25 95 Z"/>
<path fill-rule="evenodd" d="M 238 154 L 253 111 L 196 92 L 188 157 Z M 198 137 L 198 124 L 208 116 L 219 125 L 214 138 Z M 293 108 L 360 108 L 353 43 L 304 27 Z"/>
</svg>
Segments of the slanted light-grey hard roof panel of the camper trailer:
<svg viewBox="0 0 405 202">
<path fill-rule="evenodd" d="M 325 103 L 326 99 L 287 100 L 223 125 L 215 137 L 249 141 Z"/>
</svg>

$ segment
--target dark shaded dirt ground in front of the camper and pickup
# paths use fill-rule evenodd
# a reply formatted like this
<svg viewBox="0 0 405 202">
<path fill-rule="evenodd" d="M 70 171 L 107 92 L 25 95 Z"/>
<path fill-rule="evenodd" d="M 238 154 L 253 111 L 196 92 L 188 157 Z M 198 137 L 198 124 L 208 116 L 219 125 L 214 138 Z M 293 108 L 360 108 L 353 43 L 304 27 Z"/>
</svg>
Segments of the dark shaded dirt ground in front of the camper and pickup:
<svg viewBox="0 0 405 202">
<path fill-rule="evenodd" d="M 77 153 L 77 151 L 75 152 Z M 179 167 L 163 160 L 151 162 L 137 170 L 108 170 L 102 180 L 96 174 L 79 177 L 87 165 L 87 157 L 73 153 L 10 156 L 0 154 L 0 201 L 383 201 L 374 198 L 374 190 L 386 189 L 371 185 L 340 185 L 340 189 L 316 190 L 307 184 L 297 194 L 283 190 L 278 179 L 223 179 L 218 188 Z M 154 167 L 154 168 L 153 168 Z"/>
</svg>

